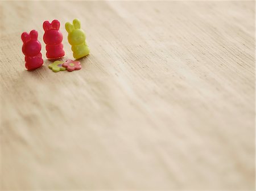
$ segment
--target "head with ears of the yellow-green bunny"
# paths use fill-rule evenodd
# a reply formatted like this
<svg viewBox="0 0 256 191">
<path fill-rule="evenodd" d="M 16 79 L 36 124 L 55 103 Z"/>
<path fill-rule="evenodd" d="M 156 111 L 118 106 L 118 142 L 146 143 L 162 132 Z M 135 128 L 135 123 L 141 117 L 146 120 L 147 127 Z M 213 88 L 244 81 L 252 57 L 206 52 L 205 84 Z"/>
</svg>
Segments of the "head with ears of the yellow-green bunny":
<svg viewBox="0 0 256 191">
<path fill-rule="evenodd" d="M 78 19 L 73 20 L 73 24 L 67 22 L 65 29 L 68 32 L 68 42 L 71 45 L 80 45 L 85 42 L 85 32 L 81 29 Z"/>
</svg>

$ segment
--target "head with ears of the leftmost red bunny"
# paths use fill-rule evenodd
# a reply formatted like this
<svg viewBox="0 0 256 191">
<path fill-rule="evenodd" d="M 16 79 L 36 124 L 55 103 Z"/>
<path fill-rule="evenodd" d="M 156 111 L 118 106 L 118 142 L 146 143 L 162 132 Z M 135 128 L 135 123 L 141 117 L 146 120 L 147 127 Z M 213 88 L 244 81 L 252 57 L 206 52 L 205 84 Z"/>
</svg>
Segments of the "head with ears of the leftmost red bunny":
<svg viewBox="0 0 256 191">
<path fill-rule="evenodd" d="M 35 30 L 32 30 L 29 34 L 27 32 L 22 33 L 22 52 L 26 56 L 36 56 L 40 53 L 41 50 L 41 44 L 38 41 L 38 32 Z"/>
</svg>

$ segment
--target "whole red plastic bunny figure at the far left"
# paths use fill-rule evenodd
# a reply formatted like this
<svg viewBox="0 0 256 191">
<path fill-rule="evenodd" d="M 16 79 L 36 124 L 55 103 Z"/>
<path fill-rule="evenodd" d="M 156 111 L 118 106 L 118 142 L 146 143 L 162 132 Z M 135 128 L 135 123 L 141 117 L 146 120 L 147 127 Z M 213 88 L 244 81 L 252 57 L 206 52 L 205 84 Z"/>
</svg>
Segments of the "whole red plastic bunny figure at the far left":
<svg viewBox="0 0 256 191">
<path fill-rule="evenodd" d="M 28 70 L 34 70 L 43 65 L 43 59 L 41 51 L 41 44 L 38 41 L 38 32 L 32 30 L 29 34 L 27 32 L 22 33 L 22 52 L 25 55 L 26 68 Z"/>
</svg>

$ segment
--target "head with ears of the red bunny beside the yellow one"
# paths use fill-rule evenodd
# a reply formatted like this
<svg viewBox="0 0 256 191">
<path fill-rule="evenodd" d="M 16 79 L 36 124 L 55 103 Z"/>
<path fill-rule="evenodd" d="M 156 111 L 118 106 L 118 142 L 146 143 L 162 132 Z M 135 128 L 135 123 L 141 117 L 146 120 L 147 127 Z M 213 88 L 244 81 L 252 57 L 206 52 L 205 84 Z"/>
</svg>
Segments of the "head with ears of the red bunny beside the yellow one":
<svg viewBox="0 0 256 191">
<path fill-rule="evenodd" d="M 59 20 L 53 20 L 52 23 L 49 23 L 48 20 L 46 20 L 43 23 L 44 28 L 44 43 L 47 45 L 58 45 L 63 40 L 63 35 L 59 31 L 60 29 L 60 22 Z"/>
</svg>

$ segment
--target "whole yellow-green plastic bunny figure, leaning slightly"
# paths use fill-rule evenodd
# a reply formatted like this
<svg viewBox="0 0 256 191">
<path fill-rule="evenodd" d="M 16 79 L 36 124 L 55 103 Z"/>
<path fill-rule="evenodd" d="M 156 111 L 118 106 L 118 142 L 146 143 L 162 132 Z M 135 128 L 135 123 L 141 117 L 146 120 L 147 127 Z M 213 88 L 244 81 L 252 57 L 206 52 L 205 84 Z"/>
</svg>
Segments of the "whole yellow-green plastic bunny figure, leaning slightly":
<svg viewBox="0 0 256 191">
<path fill-rule="evenodd" d="M 73 24 L 67 22 L 65 29 L 68 31 L 68 43 L 72 46 L 74 58 L 87 56 L 90 50 L 85 42 L 85 32 L 81 29 L 80 21 L 74 19 Z"/>
</svg>

